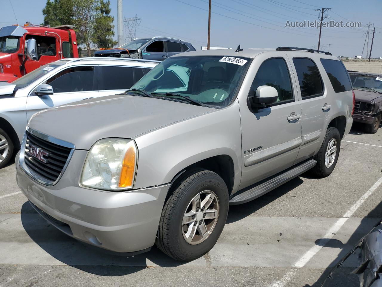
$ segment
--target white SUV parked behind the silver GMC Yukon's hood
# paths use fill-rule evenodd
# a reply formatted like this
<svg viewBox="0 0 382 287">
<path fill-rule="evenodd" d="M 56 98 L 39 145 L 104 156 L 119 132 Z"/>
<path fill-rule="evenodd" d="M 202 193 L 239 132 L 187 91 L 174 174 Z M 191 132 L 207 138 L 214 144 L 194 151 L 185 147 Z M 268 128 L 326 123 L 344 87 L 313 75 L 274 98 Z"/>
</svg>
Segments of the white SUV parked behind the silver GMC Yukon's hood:
<svg viewBox="0 0 382 287">
<path fill-rule="evenodd" d="M 0 82 L 0 168 L 19 148 L 36 112 L 129 89 L 159 61 L 118 58 L 62 59 L 12 83 Z M 54 123 L 52 123 L 54 124 Z"/>
</svg>

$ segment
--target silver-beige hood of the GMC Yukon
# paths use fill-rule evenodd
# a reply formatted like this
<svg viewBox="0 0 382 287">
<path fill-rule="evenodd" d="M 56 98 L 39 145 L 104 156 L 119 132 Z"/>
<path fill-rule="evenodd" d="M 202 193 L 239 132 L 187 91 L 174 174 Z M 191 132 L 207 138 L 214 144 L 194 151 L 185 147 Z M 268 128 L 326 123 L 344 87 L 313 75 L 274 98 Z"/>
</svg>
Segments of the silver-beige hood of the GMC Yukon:
<svg viewBox="0 0 382 287">
<path fill-rule="evenodd" d="M 100 139 L 132 139 L 150 130 L 214 111 L 192 104 L 115 95 L 88 99 L 36 113 L 28 126 L 89 150 Z"/>
</svg>

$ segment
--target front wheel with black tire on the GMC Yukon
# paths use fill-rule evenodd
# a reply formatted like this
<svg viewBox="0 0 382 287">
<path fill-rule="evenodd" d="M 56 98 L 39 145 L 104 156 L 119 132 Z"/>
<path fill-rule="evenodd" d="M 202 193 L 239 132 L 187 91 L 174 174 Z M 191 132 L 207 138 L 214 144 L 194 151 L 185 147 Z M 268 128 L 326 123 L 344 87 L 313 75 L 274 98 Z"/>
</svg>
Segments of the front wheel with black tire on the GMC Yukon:
<svg viewBox="0 0 382 287">
<path fill-rule="evenodd" d="M 185 214 L 194 212 L 193 202 L 197 202 L 198 196 L 203 202 L 208 193 L 210 194 L 209 198 L 214 197 L 214 199 L 210 205 L 206 204 L 205 212 L 202 212 L 202 215 L 197 212 L 194 219 L 189 217 L 190 223 L 183 224 Z M 175 185 L 174 192 L 168 197 L 163 207 L 156 241 L 158 248 L 168 256 L 181 261 L 191 261 L 203 256 L 214 247 L 222 233 L 227 220 L 228 206 L 228 189 L 218 174 L 204 169 L 194 169 L 187 172 Z M 192 210 L 189 209 L 190 207 Z M 217 218 L 204 219 L 205 216 L 215 216 L 216 213 L 211 212 L 211 210 L 215 210 L 216 207 Z M 199 224 L 198 222 L 204 223 Z M 204 237 L 201 236 L 200 232 L 202 228 L 205 231 L 210 228 Z M 189 230 L 191 233 L 186 239 Z M 196 230 L 194 236 L 191 237 L 194 230 Z"/>
</svg>

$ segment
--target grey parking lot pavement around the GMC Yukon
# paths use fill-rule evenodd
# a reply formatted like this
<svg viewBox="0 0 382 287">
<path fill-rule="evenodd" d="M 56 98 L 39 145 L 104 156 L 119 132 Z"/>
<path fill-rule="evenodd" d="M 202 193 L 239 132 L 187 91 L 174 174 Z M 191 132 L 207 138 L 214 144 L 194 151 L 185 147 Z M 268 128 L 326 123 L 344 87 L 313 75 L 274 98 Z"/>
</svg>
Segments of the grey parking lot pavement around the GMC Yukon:
<svg viewBox="0 0 382 287">
<path fill-rule="evenodd" d="M 303 174 L 230 207 L 214 248 L 174 261 L 155 247 L 131 258 L 104 254 L 56 230 L 21 194 L 15 165 L 0 170 L 0 287 L 318 287 L 332 267 L 382 219 L 382 129 L 356 127 L 341 142 L 333 173 Z M 325 286 L 358 286 L 356 255 Z"/>
</svg>

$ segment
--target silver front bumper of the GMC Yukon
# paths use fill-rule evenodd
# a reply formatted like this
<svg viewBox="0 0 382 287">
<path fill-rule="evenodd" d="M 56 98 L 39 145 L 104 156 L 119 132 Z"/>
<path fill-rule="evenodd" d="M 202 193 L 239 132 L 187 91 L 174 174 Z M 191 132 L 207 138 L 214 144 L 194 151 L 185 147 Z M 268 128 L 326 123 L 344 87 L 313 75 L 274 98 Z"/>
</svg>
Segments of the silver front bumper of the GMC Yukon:
<svg viewBox="0 0 382 287">
<path fill-rule="evenodd" d="M 20 168 L 18 153 L 19 188 L 44 219 L 73 238 L 118 253 L 138 254 L 149 250 L 155 243 L 170 184 L 126 192 L 83 188 L 78 185 L 78 166 L 82 166 L 79 163 L 86 153 L 83 150 L 73 153 L 55 186 L 37 183 L 26 174 Z"/>
</svg>

